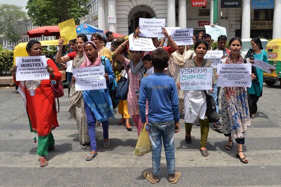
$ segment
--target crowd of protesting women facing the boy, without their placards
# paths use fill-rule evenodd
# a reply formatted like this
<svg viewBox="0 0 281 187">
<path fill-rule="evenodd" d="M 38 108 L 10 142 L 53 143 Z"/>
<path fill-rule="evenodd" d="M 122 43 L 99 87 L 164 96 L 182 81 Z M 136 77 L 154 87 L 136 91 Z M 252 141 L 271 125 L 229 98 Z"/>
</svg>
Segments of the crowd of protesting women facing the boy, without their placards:
<svg viewBox="0 0 281 187">
<path fill-rule="evenodd" d="M 138 37 L 138 28 L 135 31 L 134 37 Z M 208 50 L 211 50 L 210 35 L 200 32 L 197 37 L 194 37 L 195 45 L 193 50 L 189 46 L 177 46 L 167 31 L 163 29 L 167 47 L 163 47 L 170 54 L 169 66 L 166 73 L 175 79 L 178 85 L 179 110 L 184 116 L 185 122 L 185 141 L 192 143 L 191 131 L 193 123 L 199 122 L 201 127 L 200 151 L 203 156 L 208 156 L 207 138 L 209 132 L 209 121 L 205 116 L 206 112 L 206 95 L 204 90 L 180 90 L 179 77 L 180 68 L 195 68 L 195 67 L 212 67 L 212 61 L 205 59 L 204 56 Z M 112 34 L 112 33 L 111 33 Z M 111 37 L 112 39 L 112 37 Z M 109 95 L 109 84 L 120 76 L 127 76 L 129 79 L 128 94 L 126 100 L 120 100 L 118 104 L 118 112 L 122 115 L 120 124 L 125 122 L 125 128 L 132 131 L 132 126 L 129 123 L 130 116 L 137 129 L 137 135 L 141 132 L 142 121 L 139 116 L 138 107 L 138 91 L 141 85 L 142 78 L 149 73 L 144 73 L 151 69 L 150 53 L 142 51 L 128 50 L 129 42 L 125 38 L 117 38 L 111 41 L 111 51 L 104 47 L 103 37 L 99 34 L 93 34 L 91 41 L 88 41 L 86 35 L 79 34 L 77 39 L 70 41 L 69 44 L 72 52 L 65 56 L 63 54 L 64 40 L 58 41 L 59 49 L 56 56 L 56 63 L 66 63 L 73 60 L 72 69 L 104 66 L 105 79 L 107 89 L 100 90 L 75 90 L 75 78 L 69 74 L 69 112 L 77 122 L 79 132 L 79 142 L 81 145 L 90 145 L 90 152 L 85 157 L 85 160 L 92 160 L 97 156 L 97 143 L 95 138 L 95 125 L 97 121 L 101 122 L 103 129 L 103 147 L 110 147 L 108 134 L 109 118 L 114 118 L 112 101 Z M 164 41 L 158 41 L 157 38 L 152 38 L 155 47 L 163 46 Z M 220 43 L 224 44 L 220 44 Z M 105 42 L 106 43 L 106 42 Z M 225 48 L 226 37 L 218 38 L 218 49 L 223 50 L 223 64 L 242 64 L 253 63 L 254 59 L 259 59 L 267 62 L 266 52 L 262 50 L 261 42 L 258 38 L 251 40 L 252 50 L 249 50 L 244 61 L 240 55 L 241 40 L 237 37 L 229 41 L 229 49 Z M 27 52 L 29 56 L 41 56 L 42 48 L 40 42 L 31 40 L 27 44 Z M 145 57 L 144 57 L 145 55 Z M 144 62 L 143 62 L 144 57 Z M 104 62 L 104 63 L 103 63 Z M 50 73 L 50 80 L 60 80 L 61 73 L 51 59 L 47 59 L 47 70 Z M 145 65 L 146 64 L 146 65 Z M 65 65 L 64 65 L 65 66 Z M 52 129 L 58 127 L 57 113 L 53 92 L 52 82 L 50 80 L 34 80 L 34 81 L 16 81 L 16 69 L 12 67 L 11 72 L 14 76 L 14 81 L 19 85 L 19 92 L 23 96 L 25 107 L 27 109 L 28 118 L 30 121 L 31 131 L 38 133 L 38 149 L 37 154 L 40 156 L 40 166 L 48 165 L 46 155 L 48 151 L 54 148 L 54 137 Z M 218 78 L 215 72 L 213 83 Z M 147 71 L 149 72 L 149 71 Z M 248 158 L 243 153 L 242 145 L 245 143 L 245 135 L 247 126 L 250 125 L 250 116 L 255 117 L 257 111 L 257 101 L 262 95 L 262 71 L 254 68 L 252 77 L 252 86 L 245 87 L 223 87 L 221 94 L 218 89 L 216 95 L 221 97 L 222 111 L 222 132 L 228 137 L 228 143 L 225 145 L 226 150 L 232 148 L 233 140 L 237 143 L 237 158 L 241 162 L 247 163 Z M 209 94 L 214 94 L 214 88 L 208 91 Z M 216 97 L 217 107 L 218 98 Z M 218 108 L 217 108 L 218 111 Z M 219 121 L 218 121 L 219 123 Z M 216 123 L 217 125 L 217 123 Z M 141 156 L 141 155 L 139 155 Z"/>
</svg>

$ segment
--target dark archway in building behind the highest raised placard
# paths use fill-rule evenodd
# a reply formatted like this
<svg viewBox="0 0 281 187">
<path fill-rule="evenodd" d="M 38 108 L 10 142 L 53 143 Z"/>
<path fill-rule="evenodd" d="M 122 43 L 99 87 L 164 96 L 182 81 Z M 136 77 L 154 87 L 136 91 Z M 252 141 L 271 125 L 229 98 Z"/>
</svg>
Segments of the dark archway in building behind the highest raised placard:
<svg viewBox="0 0 281 187">
<path fill-rule="evenodd" d="M 152 8 L 146 5 L 138 5 L 131 9 L 128 14 L 128 32 L 133 33 L 138 27 L 139 18 L 156 18 Z"/>
</svg>

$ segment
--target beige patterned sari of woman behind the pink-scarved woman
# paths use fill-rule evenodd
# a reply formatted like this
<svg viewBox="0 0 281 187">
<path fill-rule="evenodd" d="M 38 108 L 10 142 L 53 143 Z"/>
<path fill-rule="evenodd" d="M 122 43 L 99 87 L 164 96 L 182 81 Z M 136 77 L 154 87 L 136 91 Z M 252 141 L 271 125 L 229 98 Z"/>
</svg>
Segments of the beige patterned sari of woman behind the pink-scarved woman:
<svg viewBox="0 0 281 187">
<path fill-rule="evenodd" d="M 72 68 L 79 68 L 85 61 L 84 56 L 76 56 L 72 63 Z M 76 120 L 79 132 L 79 142 L 87 144 L 90 142 L 88 135 L 88 125 L 84 109 L 83 91 L 75 91 L 75 84 L 71 81 L 69 93 L 69 113 Z"/>
</svg>

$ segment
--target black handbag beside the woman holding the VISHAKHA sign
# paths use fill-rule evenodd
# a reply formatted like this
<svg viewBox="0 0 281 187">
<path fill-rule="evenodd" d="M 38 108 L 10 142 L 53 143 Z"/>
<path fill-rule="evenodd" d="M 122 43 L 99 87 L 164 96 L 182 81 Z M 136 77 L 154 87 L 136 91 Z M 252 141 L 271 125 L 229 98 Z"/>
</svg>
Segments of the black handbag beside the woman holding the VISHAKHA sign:
<svg viewBox="0 0 281 187">
<path fill-rule="evenodd" d="M 208 118 L 209 123 L 215 123 L 220 119 L 219 115 L 216 111 L 215 100 L 214 100 L 213 96 L 209 95 L 206 92 L 206 90 L 204 90 L 204 92 L 206 95 L 206 104 L 207 104 L 205 116 Z"/>
</svg>

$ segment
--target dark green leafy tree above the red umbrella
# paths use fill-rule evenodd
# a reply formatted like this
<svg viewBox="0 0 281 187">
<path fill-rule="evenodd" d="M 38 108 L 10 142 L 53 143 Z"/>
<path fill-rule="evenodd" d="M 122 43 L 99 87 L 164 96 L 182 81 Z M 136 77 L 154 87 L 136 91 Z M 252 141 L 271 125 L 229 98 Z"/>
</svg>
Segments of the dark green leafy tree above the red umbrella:
<svg viewBox="0 0 281 187">
<path fill-rule="evenodd" d="M 74 18 L 75 24 L 88 14 L 89 0 L 29 0 L 26 9 L 36 26 L 51 26 Z"/>
</svg>

